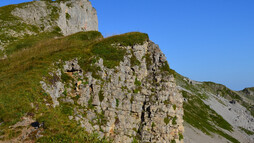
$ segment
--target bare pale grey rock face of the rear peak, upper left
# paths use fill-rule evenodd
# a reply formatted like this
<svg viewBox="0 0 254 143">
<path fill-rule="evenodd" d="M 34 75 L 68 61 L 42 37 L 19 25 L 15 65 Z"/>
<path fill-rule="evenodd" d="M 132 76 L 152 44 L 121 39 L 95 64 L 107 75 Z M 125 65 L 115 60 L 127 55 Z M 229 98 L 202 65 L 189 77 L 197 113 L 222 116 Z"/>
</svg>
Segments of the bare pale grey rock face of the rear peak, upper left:
<svg viewBox="0 0 254 143">
<path fill-rule="evenodd" d="M 64 35 L 80 31 L 98 31 L 96 10 L 88 0 L 69 0 L 66 2 L 35 1 L 12 11 L 27 24 L 52 30 L 58 26 Z"/>
</svg>

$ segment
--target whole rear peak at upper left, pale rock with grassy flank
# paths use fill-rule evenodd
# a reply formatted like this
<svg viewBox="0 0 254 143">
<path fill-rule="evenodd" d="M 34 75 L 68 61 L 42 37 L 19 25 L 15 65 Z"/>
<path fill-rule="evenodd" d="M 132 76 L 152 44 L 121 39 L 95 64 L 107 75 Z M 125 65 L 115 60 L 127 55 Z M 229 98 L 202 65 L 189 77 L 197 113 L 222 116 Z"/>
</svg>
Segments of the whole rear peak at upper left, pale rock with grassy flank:
<svg viewBox="0 0 254 143">
<path fill-rule="evenodd" d="M 11 42 L 43 32 L 64 36 L 80 31 L 98 31 L 97 12 L 88 0 L 33 1 L 0 9 L 0 58 Z"/>
</svg>

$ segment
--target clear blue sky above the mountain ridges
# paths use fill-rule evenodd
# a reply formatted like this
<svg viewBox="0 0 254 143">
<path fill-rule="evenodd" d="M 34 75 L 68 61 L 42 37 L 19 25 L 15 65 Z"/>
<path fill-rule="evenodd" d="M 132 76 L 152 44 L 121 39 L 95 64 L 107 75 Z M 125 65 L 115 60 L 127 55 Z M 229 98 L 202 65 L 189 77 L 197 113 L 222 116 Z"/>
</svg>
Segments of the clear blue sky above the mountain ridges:
<svg viewBox="0 0 254 143">
<path fill-rule="evenodd" d="M 28 0 L 0 0 L 0 6 Z M 170 67 L 234 90 L 254 86 L 254 0 L 91 0 L 104 36 L 148 33 Z"/>
</svg>

